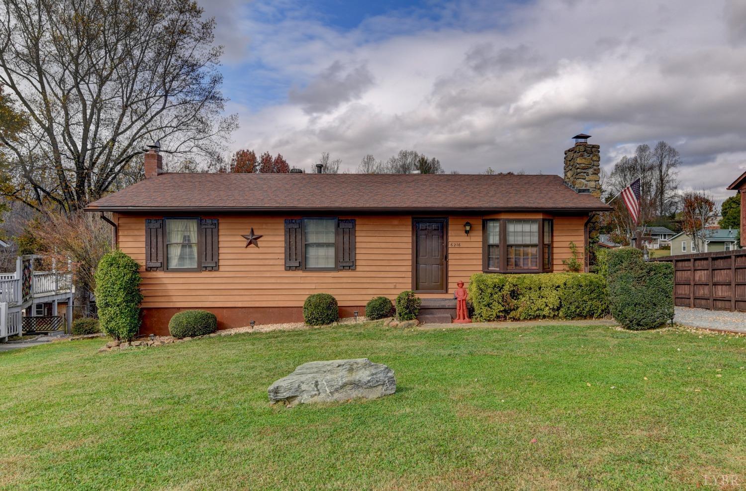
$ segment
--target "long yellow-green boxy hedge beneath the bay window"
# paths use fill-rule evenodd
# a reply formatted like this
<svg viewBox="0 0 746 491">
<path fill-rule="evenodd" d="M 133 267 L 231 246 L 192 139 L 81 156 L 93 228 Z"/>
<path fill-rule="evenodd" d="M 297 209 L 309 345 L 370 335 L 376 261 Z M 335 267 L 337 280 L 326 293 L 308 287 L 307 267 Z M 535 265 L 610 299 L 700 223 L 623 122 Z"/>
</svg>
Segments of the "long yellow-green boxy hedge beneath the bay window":
<svg viewBox="0 0 746 491">
<path fill-rule="evenodd" d="M 609 313 L 604 278 L 591 273 L 477 273 L 468 285 L 474 320 L 586 319 Z"/>
</svg>

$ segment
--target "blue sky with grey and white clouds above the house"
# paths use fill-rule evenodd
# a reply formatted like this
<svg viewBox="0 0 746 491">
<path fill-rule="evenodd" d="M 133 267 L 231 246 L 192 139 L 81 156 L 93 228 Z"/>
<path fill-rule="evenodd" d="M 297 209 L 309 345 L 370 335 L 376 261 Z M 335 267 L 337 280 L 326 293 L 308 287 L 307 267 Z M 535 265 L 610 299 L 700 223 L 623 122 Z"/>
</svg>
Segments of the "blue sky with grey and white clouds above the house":
<svg viewBox="0 0 746 491">
<path fill-rule="evenodd" d="M 583 132 L 609 171 L 665 140 L 718 201 L 746 171 L 746 0 L 199 1 L 234 150 L 561 175 Z"/>
</svg>

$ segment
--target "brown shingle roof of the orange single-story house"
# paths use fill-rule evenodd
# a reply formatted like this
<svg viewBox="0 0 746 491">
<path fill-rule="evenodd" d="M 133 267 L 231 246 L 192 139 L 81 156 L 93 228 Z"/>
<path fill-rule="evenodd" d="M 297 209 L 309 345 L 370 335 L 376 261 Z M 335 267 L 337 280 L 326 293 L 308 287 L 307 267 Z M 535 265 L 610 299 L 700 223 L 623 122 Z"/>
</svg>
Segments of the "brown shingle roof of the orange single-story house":
<svg viewBox="0 0 746 491">
<path fill-rule="evenodd" d="M 562 210 L 610 208 L 557 175 L 162 174 L 87 210 Z"/>
</svg>

